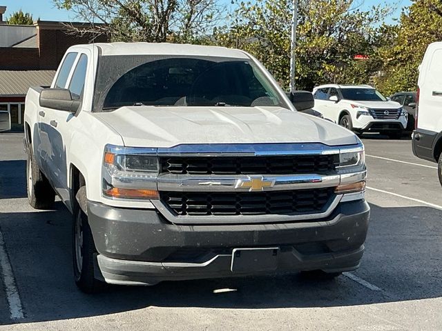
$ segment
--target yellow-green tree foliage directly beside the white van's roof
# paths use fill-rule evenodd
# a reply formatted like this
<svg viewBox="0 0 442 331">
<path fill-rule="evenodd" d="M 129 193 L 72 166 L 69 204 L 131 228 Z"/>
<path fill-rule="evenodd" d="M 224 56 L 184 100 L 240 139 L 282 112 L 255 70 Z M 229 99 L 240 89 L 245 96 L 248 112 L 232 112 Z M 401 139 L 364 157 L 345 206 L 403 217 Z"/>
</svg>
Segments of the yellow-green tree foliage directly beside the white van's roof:
<svg viewBox="0 0 442 331">
<path fill-rule="evenodd" d="M 442 40 L 442 2 L 413 0 L 403 10 L 396 37 L 379 50 L 381 75 L 376 86 L 385 94 L 416 90 L 419 64 L 428 44 Z"/>
</svg>

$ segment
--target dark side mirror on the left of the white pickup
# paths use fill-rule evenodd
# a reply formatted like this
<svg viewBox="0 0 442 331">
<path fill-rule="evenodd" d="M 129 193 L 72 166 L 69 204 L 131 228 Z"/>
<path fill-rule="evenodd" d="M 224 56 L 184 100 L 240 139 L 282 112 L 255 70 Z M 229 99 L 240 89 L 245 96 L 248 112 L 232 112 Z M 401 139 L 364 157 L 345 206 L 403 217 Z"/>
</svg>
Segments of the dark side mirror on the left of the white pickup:
<svg viewBox="0 0 442 331">
<path fill-rule="evenodd" d="M 80 100 L 75 100 L 66 88 L 48 88 L 40 92 L 40 107 L 77 112 Z"/>
</svg>

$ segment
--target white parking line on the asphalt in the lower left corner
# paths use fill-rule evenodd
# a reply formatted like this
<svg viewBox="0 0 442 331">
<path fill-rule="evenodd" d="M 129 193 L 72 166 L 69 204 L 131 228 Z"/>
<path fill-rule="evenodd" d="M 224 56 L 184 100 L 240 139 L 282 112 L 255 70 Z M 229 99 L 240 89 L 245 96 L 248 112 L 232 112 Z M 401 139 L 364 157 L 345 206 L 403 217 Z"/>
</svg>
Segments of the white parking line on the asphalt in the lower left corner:
<svg viewBox="0 0 442 331">
<path fill-rule="evenodd" d="M 3 234 L 0 232 L 0 265 L 2 278 L 5 284 L 6 298 L 8 299 L 9 312 L 11 319 L 23 319 L 23 306 L 21 305 L 19 290 L 15 285 L 15 278 L 6 253 Z"/>
</svg>

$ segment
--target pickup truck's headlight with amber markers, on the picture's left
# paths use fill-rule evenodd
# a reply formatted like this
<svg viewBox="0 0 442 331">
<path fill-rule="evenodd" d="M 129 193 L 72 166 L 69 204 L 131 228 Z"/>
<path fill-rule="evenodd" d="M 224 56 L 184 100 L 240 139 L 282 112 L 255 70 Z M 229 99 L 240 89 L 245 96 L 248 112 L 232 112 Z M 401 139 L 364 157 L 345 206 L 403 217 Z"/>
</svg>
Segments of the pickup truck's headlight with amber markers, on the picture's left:
<svg viewBox="0 0 442 331">
<path fill-rule="evenodd" d="M 106 145 L 103 194 L 113 199 L 159 199 L 156 150 Z"/>
</svg>

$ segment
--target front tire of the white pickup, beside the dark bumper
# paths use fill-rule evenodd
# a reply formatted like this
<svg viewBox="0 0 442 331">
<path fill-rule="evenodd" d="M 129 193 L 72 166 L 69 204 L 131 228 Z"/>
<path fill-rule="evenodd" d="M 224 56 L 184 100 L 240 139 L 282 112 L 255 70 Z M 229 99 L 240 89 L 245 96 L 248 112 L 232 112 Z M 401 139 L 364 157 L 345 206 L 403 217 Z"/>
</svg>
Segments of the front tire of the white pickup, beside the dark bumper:
<svg viewBox="0 0 442 331">
<path fill-rule="evenodd" d="M 92 294 L 104 288 L 104 283 L 95 278 L 95 248 L 88 216 L 77 201 L 86 201 L 86 187 L 82 186 L 76 196 L 73 213 L 72 252 L 74 278 L 77 287 L 84 293 Z"/>
</svg>

